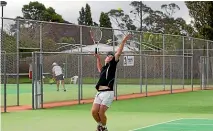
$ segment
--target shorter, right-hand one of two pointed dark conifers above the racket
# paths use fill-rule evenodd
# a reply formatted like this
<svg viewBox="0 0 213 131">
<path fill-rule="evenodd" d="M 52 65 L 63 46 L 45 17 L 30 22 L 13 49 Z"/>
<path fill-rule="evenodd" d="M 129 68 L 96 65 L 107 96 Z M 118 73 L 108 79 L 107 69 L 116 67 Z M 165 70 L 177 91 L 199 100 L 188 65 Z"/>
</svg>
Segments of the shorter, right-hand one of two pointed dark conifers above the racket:
<svg viewBox="0 0 213 131">
<path fill-rule="evenodd" d="M 112 28 L 112 23 L 107 13 L 101 12 L 99 22 L 100 22 L 100 27 Z"/>
</svg>

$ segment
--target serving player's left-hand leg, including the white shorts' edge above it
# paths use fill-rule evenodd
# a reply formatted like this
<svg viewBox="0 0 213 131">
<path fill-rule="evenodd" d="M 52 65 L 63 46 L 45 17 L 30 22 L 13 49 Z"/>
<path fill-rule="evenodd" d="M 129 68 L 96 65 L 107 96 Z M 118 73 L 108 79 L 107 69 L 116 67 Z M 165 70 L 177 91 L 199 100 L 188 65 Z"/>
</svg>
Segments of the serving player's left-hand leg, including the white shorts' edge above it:
<svg viewBox="0 0 213 131">
<path fill-rule="evenodd" d="M 98 96 L 99 94 L 100 94 L 99 92 L 96 94 L 93 105 L 92 105 L 92 109 L 91 109 L 92 116 L 98 124 L 97 131 L 100 131 L 102 126 L 101 119 L 99 117 L 99 110 L 100 110 L 100 103 L 101 103 L 101 99 Z"/>
</svg>

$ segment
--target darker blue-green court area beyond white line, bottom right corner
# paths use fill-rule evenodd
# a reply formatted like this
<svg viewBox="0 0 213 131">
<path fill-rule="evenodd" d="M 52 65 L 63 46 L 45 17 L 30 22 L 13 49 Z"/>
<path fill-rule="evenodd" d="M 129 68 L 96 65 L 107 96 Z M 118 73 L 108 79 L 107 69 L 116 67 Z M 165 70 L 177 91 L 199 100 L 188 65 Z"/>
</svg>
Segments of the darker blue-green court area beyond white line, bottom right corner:
<svg viewBox="0 0 213 131">
<path fill-rule="evenodd" d="M 131 131 L 212 131 L 213 119 L 178 119 Z"/>
</svg>

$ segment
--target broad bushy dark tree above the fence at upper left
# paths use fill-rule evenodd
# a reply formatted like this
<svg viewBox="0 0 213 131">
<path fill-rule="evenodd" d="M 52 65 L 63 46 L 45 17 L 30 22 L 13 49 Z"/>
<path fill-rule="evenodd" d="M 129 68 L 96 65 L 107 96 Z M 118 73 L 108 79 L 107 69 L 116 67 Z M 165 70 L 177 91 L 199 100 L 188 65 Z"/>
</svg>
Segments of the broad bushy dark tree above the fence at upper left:
<svg viewBox="0 0 213 131">
<path fill-rule="evenodd" d="M 30 2 L 28 5 L 24 5 L 22 7 L 22 13 L 23 18 L 25 19 L 64 22 L 62 16 L 57 14 L 52 7 L 46 8 L 38 1 Z"/>
</svg>

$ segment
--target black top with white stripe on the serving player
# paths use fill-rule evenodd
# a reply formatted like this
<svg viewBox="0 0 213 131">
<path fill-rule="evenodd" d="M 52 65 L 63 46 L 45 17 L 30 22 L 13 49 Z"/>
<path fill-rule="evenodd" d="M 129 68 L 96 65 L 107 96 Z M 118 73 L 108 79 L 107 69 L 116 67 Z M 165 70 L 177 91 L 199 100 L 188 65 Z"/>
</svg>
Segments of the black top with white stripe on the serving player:
<svg viewBox="0 0 213 131">
<path fill-rule="evenodd" d="M 114 86 L 115 72 L 116 72 L 116 67 L 117 67 L 118 62 L 119 62 L 119 60 L 115 61 L 115 57 L 113 57 L 113 59 L 109 63 L 107 63 L 106 65 L 104 65 L 101 68 L 100 78 L 96 85 L 97 90 L 99 89 L 99 86 L 108 86 L 109 87 L 109 89 L 101 90 L 101 91 L 113 91 L 114 90 L 113 86 Z"/>
</svg>

